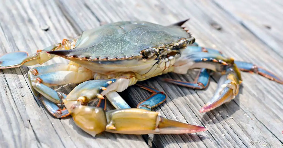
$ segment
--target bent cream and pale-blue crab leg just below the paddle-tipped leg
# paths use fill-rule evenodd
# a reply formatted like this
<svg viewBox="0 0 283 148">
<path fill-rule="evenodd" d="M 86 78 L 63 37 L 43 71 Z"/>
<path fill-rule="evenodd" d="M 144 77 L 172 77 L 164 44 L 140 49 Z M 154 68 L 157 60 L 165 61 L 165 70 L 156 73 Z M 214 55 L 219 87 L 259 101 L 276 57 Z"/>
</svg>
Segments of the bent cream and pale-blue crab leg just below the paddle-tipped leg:
<svg viewBox="0 0 283 148">
<path fill-rule="evenodd" d="M 28 76 L 35 95 L 38 96 L 40 93 L 52 102 L 59 104 L 62 103 L 62 96 L 51 89 L 50 86 L 80 83 L 92 78 L 90 70 L 72 62 L 31 68 Z"/>
</svg>

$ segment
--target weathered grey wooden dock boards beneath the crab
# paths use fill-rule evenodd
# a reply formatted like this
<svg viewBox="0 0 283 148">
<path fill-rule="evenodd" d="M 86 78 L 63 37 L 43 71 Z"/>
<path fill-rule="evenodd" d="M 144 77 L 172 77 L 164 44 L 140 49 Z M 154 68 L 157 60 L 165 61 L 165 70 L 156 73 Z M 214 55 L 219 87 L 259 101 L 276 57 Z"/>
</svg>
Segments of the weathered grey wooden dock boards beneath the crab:
<svg viewBox="0 0 283 148">
<path fill-rule="evenodd" d="M 201 46 L 265 67 L 283 77 L 283 3 L 280 0 L 1 0 L 0 55 L 38 49 L 72 38 L 105 22 L 144 20 L 185 26 Z M 46 64 L 66 62 L 62 58 Z M 44 64 L 44 65 L 46 65 Z M 36 65 L 38 66 L 38 65 Z M 164 91 L 156 107 L 162 116 L 209 130 L 195 134 L 123 135 L 95 138 L 72 118 L 56 119 L 31 93 L 31 67 L 0 70 L 0 147 L 283 147 L 283 85 L 242 72 L 239 95 L 213 111 L 198 110 L 213 96 L 218 75 L 206 90 L 165 83 L 160 78 L 193 81 L 197 71 L 166 74 L 142 82 Z M 55 87 L 68 94 L 76 85 Z M 135 108 L 150 93 L 134 85 L 121 96 Z M 111 106 L 108 106 L 108 109 Z"/>
</svg>

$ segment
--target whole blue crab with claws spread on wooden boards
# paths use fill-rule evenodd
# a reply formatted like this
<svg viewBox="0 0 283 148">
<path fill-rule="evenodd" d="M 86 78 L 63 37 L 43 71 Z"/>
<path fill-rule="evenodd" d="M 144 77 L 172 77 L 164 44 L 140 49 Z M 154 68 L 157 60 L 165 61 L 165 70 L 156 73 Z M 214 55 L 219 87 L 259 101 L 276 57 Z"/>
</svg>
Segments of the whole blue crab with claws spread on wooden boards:
<svg viewBox="0 0 283 148">
<path fill-rule="evenodd" d="M 166 100 L 166 94 L 139 85 L 153 93 L 131 108 L 117 92 L 138 81 L 174 72 L 186 74 L 200 69 L 194 82 L 172 79 L 164 81 L 205 89 L 212 72 L 222 74 L 213 97 L 199 111 L 207 112 L 231 101 L 239 93 L 243 81 L 240 71 L 260 74 L 283 84 L 272 72 L 252 63 L 235 61 L 220 51 L 200 47 L 181 21 L 164 26 L 145 21 L 122 21 L 83 31 L 79 37 L 63 39 L 33 55 L 26 52 L 7 53 L 0 57 L 0 69 L 22 65 L 42 65 L 54 57 L 70 62 L 31 68 L 28 79 L 33 94 L 56 118 L 71 115 L 75 124 L 95 136 L 103 131 L 121 134 L 181 134 L 207 130 L 166 119 L 153 108 Z M 52 86 L 78 84 L 68 95 Z M 115 110 L 105 111 L 106 99 Z M 93 103 L 98 102 L 97 105 Z M 63 106 L 63 108 L 62 108 Z"/>
</svg>

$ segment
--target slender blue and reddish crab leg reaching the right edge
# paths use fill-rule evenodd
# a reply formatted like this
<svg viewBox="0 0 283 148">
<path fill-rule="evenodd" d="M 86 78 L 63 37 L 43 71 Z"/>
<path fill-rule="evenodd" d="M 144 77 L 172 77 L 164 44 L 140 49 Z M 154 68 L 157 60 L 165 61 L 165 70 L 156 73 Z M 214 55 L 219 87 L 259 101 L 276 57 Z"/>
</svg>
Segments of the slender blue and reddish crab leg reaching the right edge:
<svg viewBox="0 0 283 148">
<path fill-rule="evenodd" d="M 266 70 L 262 67 L 258 67 L 248 62 L 242 62 L 242 61 L 234 61 L 234 62 L 241 71 L 259 74 L 265 78 L 268 78 L 269 80 L 283 84 L 283 80 L 278 76 L 276 76 L 273 72 L 270 72 L 269 70 Z"/>
</svg>

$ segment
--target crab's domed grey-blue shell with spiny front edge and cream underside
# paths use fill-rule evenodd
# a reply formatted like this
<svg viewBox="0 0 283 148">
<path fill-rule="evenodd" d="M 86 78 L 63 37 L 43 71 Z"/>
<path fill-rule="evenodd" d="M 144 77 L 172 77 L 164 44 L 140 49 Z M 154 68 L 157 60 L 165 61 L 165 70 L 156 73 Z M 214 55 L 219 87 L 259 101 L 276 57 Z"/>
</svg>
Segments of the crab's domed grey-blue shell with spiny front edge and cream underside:
<svg viewBox="0 0 283 148">
<path fill-rule="evenodd" d="M 176 25 L 123 21 L 84 31 L 71 50 L 48 53 L 101 74 L 131 71 L 143 75 L 160 60 L 180 56 L 194 40 Z"/>
</svg>

